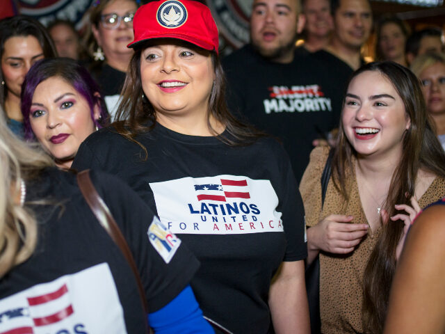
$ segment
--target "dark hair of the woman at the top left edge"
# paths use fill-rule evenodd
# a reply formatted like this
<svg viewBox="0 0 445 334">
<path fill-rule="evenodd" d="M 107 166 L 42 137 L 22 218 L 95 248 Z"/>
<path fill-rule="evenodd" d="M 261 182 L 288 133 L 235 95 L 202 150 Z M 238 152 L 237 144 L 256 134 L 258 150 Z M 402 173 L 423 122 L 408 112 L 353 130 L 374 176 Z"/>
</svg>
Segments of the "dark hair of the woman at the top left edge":
<svg viewBox="0 0 445 334">
<path fill-rule="evenodd" d="M 15 36 L 34 36 L 42 47 L 44 58 L 57 56 L 56 47 L 47 30 L 37 20 L 25 15 L 6 17 L 0 21 L 0 58 L 3 56 L 6 40 Z M 3 81 L 3 73 L 0 70 L 0 79 Z M 6 98 L 6 85 L 0 89 L 0 105 L 4 106 Z"/>
</svg>

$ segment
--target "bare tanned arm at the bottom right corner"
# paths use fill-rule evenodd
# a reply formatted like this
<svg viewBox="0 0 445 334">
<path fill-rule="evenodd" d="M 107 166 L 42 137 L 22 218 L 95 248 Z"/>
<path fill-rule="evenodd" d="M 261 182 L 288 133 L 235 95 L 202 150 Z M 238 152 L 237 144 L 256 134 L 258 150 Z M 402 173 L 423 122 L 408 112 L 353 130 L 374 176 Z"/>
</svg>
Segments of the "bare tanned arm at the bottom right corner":
<svg viewBox="0 0 445 334">
<path fill-rule="evenodd" d="M 445 206 L 426 209 L 407 234 L 384 333 L 445 332 Z"/>
</svg>

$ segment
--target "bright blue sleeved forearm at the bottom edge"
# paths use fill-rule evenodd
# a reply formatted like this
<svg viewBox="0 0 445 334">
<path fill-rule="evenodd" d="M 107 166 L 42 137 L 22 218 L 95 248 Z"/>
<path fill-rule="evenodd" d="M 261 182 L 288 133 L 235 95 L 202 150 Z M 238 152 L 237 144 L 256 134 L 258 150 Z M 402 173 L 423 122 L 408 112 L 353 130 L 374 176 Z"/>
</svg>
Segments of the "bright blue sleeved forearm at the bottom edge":
<svg viewBox="0 0 445 334">
<path fill-rule="evenodd" d="M 190 285 L 161 310 L 149 313 L 148 322 L 156 334 L 215 333 L 202 317 L 202 310 Z"/>
</svg>

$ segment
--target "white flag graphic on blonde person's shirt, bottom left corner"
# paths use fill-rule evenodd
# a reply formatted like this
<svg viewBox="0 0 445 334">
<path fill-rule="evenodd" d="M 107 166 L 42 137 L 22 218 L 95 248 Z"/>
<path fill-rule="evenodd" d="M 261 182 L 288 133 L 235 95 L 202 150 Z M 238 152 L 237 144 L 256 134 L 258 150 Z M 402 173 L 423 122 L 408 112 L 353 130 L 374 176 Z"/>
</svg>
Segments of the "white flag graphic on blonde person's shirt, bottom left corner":
<svg viewBox="0 0 445 334">
<path fill-rule="evenodd" d="M 127 333 L 108 264 L 97 264 L 2 299 L 0 333 Z"/>
</svg>

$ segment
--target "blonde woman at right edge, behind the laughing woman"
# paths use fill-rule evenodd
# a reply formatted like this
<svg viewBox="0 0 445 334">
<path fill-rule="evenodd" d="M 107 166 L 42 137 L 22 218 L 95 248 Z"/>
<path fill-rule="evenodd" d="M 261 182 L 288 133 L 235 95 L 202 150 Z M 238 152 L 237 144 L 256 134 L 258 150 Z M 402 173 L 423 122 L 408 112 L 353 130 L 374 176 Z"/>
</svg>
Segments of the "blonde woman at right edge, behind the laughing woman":
<svg viewBox="0 0 445 334">
<path fill-rule="evenodd" d="M 435 122 L 437 137 L 445 149 L 445 56 L 418 56 L 412 62 L 411 70 L 422 83 L 426 109 Z"/>
</svg>

